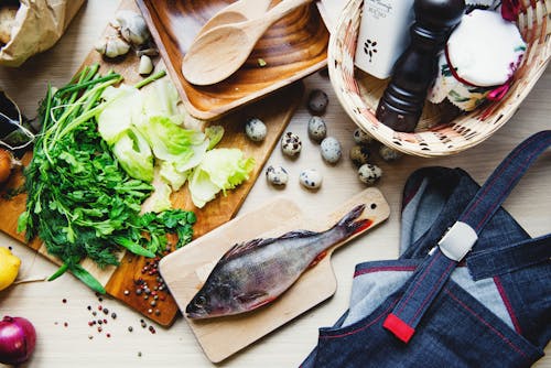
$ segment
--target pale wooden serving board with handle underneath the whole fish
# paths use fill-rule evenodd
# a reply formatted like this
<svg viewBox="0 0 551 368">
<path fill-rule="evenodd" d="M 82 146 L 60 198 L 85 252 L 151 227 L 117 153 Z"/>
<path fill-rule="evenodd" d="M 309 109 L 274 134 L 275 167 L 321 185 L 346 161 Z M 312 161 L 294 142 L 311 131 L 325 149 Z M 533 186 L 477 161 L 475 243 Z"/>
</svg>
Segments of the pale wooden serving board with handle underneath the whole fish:
<svg viewBox="0 0 551 368">
<path fill-rule="evenodd" d="M 278 237 L 296 229 L 323 231 L 359 204 L 366 204 L 360 218 L 372 221 L 366 230 L 389 216 L 389 206 L 376 188 L 367 188 L 357 194 L 324 218 L 320 218 L 318 214 L 315 214 L 317 217 L 311 217 L 314 214 L 305 214 L 293 202 L 277 198 L 166 256 L 160 262 L 161 274 L 180 310 L 185 311 L 217 261 L 235 243 L 255 238 Z M 306 270 L 291 289 L 259 310 L 210 320 L 186 318 L 206 356 L 214 362 L 224 360 L 333 295 L 336 280 L 331 255 L 360 234 L 332 247 L 326 257 Z"/>
</svg>

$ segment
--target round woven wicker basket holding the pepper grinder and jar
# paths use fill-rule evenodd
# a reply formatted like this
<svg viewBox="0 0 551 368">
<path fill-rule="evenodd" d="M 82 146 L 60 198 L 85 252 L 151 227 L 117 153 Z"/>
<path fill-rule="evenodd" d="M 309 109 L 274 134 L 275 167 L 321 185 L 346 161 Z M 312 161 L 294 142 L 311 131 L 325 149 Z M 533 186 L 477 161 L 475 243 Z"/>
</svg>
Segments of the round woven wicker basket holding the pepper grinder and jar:
<svg viewBox="0 0 551 368">
<path fill-rule="evenodd" d="M 354 54 L 361 18 L 363 0 L 349 0 L 329 39 L 328 69 L 335 93 L 350 118 L 381 143 L 419 156 L 442 156 L 474 147 L 499 129 L 545 71 L 551 55 L 551 0 L 520 0 L 518 26 L 528 47 L 508 94 L 500 101 L 440 123 L 444 110 L 425 104 L 418 128 L 412 133 L 395 131 L 375 117 L 388 80 L 356 71 Z"/>
</svg>

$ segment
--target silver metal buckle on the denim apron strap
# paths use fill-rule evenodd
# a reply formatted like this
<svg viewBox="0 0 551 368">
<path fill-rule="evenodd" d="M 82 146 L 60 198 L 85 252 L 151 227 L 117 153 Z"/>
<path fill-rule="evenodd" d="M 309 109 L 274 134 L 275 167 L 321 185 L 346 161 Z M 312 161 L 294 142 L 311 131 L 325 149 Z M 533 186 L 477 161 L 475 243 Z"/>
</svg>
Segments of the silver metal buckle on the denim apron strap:
<svg viewBox="0 0 551 368">
<path fill-rule="evenodd" d="M 465 223 L 455 223 L 440 239 L 439 248 L 445 257 L 460 262 L 473 248 L 478 236 L 476 231 Z"/>
</svg>

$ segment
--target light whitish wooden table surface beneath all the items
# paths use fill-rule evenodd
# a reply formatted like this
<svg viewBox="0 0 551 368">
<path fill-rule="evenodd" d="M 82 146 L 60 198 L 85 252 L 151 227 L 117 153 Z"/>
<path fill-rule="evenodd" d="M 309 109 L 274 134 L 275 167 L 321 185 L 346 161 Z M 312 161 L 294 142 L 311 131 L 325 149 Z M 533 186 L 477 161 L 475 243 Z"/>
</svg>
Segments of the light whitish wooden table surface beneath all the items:
<svg viewBox="0 0 551 368">
<path fill-rule="evenodd" d="M 4 89 L 23 109 L 35 115 L 37 101 L 44 96 L 47 82 L 55 86 L 65 84 L 105 29 L 118 1 L 91 0 L 77 14 L 58 44 L 28 61 L 18 69 L 0 67 L 0 88 Z M 306 94 L 321 88 L 329 95 L 328 110 L 324 117 L 328 133 L 336 137 L 344 152 L 353 145 L 354 122 L 343 111 L 332 90 L 329 80 L 320 74 L 304 80 Z M 403 184 L 415 169 L 429 165 L 463 167 L 479 183 L 490 174 L 501 159 L 522 139 L 551 127 L 551 73 L 548 69 L 523 101 L 520 110 L 495 136 L 476 148 L 457 155 L 442 159 L 407 156 L 387 164 L 377 160 L 385 171 L 378 183 L 387 197 L 390 219 L 365 237 L 352 241 L 333 256 L 338 281 L 336 294 L 299 318 L 266 336 L 252 346 L 223 361 L 225 367 L 296 367 L 314 347 L 317 328 L 332 325 L 346 310 L 350 293 L 352 275 L 356 263 L 368 260 L 398 257 L 399 208 Z M 298 160 L 288 160 L 276 150 L 268 164 L 282 164 L 290 172 L 290 183 L 284 190 L 268 185 L 261 176 L 245 201 L 240 214 L 253 209 L 276 195 L 292 198 L 304 212 L 315 216 L 329 213 L 338 204 L 352 197 L 365 186 L 358 181 L 352 162 L 345 156 L 334 166 L 325 164 L 318 147 L 306 137 L 310 118 L 304 104 L 296 111 L 289 130 L 304 139 L 303 151 Z M 347 154 L 346 154 L 347 155 Z M 514 191 L 505 207 L 532 236 L 551 230 L 551 153 L 545 153 Z M 301 170 L 315 167 L 324 175 L 323 186 L 309 192 L 299 184 Z M 28 248 L 0 235 L 0 246 L 13 248 L 22 259 L 20 279 L 46 277 L 56 267 Z M 65 302 L 64 302 L 65 301 Z M 97 325 L 88 326 L 94 317 L 87 310 L 98 306 L 109 310 L 104 332 Z M 110 314 L 117 314 L 114 320 Z M 99 301 L 86 286 L 69 274 L 55 282 L 20 284 L 0 292 L 0 314 L 18 315 L 31 320 L 37 331 L 37 345 L 29 367 L 210 367 L 186 322 L 180 317 L 170 328 L 144 321 L 142 316 L 109 297 Z M 128 327 L 133 331 L 129 332 Z M 154 329 L 154 334 L 150 331 Z M 110 337 L 107 337 L 107 333 Z M 90 338 L 91 337 L 91 338 Z M 551 348 L 547 348 L 548 354 Z M 1 366 L 1 365 L 0 365 Z M 551 367 L 551 358 L 541 359 L 538 367 Z"/>
</svg>

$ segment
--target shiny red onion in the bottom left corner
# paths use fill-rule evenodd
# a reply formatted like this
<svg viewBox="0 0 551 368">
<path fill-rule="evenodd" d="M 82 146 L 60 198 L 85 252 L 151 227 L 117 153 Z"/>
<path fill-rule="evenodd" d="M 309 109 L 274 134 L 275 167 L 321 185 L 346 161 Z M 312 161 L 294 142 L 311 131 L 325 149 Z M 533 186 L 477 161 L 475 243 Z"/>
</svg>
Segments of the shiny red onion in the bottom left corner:
<svg viewBox="0 0 551 368">
<path fill-rule="evenodd" d="M 36 344 L 36 332 L 23 317 L 4 316 L 0 321 L 0 362 L 17 365 L 29 359 Z"/>
</svg>

